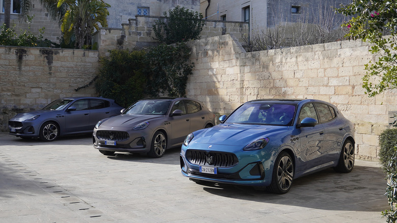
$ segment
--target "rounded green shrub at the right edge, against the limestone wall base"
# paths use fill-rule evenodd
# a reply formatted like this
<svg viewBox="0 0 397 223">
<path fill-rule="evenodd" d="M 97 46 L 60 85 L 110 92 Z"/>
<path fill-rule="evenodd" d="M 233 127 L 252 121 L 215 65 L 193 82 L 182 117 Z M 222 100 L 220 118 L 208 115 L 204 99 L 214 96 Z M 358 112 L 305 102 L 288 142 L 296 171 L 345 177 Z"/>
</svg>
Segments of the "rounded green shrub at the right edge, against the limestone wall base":
<svg viewBox="0 0 397 223">
<path fill-rule="evenodd" d="M 379 145 L 379 160 L 385 167 L 394 154 L 394 147 L 397 146 L 397 128 L 384 130 L 379 136 Z"/>
</svg>

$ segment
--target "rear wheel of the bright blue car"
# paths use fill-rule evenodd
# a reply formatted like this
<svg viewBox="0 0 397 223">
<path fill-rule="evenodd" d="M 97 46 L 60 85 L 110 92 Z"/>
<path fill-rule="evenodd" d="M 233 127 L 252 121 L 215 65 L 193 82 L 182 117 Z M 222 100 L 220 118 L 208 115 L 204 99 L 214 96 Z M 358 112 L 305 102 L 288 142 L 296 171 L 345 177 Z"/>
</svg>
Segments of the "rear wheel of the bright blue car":
<svg viewBox="0 0 397 223">
<path fill-rule="evenodd" d="M 354 166 L 354 144 L 350 140 L 346 140 L 343 144 L 341 155 L 339 156 L 336 172 L 349 173 Z"/>
</svg>

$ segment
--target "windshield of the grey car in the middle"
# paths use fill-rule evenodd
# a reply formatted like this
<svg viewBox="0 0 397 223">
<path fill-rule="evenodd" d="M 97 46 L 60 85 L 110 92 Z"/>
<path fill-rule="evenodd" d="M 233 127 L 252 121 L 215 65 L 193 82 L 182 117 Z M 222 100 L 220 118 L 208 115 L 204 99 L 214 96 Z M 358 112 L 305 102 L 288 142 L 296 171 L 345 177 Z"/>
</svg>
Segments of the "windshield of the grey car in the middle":
<svg viewBox="0 0 397 223">
<path fill-rule="evenodd" d="M 165 115 L 171 101 L 169 100 L 141 100 L 131 105 L 124 114 L 128 115 Z"/>
</svg>

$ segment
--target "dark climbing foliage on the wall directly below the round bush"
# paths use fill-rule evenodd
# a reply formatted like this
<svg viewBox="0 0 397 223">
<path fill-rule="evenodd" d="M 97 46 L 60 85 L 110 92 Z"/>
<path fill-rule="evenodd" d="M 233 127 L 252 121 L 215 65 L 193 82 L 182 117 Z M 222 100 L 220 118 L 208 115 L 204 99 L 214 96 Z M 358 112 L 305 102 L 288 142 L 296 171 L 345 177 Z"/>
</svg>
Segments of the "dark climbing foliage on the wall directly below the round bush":
<svg viewBox="0 0 397 223">
<path fill-rule="evenodd" d="M 160 44 L 151 48 L 147 54 L 147 63 L 150 64 L 147 94 L 152 97 L 184 97 L 187 76 L 193 69 L 189 56 L 190 49 L 185 43 L 175 46 Z"/>
</svg>

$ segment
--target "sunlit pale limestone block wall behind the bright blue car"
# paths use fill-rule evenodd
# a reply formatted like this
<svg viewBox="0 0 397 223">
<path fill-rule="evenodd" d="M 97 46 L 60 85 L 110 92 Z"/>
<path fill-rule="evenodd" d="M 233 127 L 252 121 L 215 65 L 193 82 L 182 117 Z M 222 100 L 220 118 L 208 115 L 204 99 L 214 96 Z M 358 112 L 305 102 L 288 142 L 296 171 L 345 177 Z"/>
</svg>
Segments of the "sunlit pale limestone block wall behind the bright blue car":
<svg viewBox="0 0 397 223">
<path fill-rule="evenodd" d="M 370 46 L 342 41 L 245 52 L 231 35 L 191 43 L 193 74 L 187 97 L 214 113 L 229 115 L 240 104 L 261 98 L 314 98 L 335 104 L 355 123 L 356 156 L 377 159 L 379 134 L 397 110 L 397 91 L 364 94 L 364 64 Z"/>
</svg>

